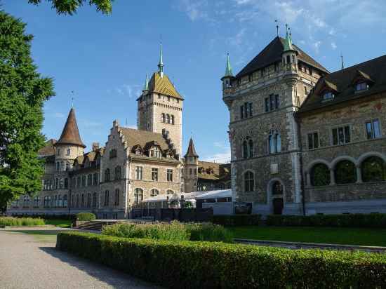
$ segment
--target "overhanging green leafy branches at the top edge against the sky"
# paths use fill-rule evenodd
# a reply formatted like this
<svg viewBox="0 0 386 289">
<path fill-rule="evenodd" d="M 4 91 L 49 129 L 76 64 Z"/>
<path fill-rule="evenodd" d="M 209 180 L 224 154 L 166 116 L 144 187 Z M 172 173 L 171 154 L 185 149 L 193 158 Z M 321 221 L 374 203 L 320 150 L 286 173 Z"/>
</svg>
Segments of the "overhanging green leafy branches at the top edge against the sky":
<svg viewBox="0 0 386 289">
<path fill-rule="evenodd" d="M 28 0 L 29 3 L 39 5 L 42 0 Z M 87 2 L 87 0 L 46 0 L 51 2 L 53 9 L 56 9 L 58 14 L 69 14 L 73 15 L 76 10 Z M 97 11 L 109 14 L 112 12 L 112 1 L 114 0 L 89 0 L 88 4 L 95 5 Z"/>
</svg>

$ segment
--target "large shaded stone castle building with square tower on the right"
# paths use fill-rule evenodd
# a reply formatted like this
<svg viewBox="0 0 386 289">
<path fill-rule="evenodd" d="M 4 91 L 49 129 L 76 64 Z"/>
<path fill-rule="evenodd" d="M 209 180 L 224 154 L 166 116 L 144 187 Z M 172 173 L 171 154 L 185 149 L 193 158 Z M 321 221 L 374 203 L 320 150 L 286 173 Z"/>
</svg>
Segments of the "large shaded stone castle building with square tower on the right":
<svg viewBox="0 0 386 289">
<path fill-rule="evenodd" d="M 386 56 L 338 72 L 274 38 L 227 59 L 232 194 L 253 213 L 386 213 Z"/>
</svg>

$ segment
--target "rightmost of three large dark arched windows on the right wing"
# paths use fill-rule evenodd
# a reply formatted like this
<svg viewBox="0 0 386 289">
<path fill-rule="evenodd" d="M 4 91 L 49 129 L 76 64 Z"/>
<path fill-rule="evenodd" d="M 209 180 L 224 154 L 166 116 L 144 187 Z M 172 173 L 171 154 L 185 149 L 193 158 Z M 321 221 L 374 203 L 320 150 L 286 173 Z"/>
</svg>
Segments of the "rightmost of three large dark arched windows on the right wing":
<svg viewBox="0 0 386 289">
<path fill-rule="evenodd" d="M 386 180 L 385 161 L 378 156 L 370 156 L 361 163 L 362 181 L 381 182 Z"/>
</svg>

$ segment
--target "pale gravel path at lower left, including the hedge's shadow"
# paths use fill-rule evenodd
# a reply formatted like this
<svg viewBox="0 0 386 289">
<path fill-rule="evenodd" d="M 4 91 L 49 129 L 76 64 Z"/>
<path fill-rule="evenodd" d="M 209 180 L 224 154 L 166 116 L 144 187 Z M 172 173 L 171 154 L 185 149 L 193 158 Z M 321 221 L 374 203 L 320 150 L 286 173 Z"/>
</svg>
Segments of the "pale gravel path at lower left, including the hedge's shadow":
<svg viewBox="0 0 386 289">
<path fill-rule="evenodd" d="M 159 288 L 56 250 L 55 231 L 51 233 L 42 236 L 0 229 L 1 289 Z"/>
</svg>

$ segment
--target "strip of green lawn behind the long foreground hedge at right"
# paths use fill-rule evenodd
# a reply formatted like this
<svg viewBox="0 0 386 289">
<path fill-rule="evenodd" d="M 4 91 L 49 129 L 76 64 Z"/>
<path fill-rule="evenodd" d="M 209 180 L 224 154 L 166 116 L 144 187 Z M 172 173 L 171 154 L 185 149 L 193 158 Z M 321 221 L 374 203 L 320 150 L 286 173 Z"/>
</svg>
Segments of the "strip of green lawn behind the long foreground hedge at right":
<svg viewBox="0 0 386 289">
<path fill-rule="evenodd" d="M 234 238 L 386 247 L 386 229 L 332 227 L 227 227 Z"/>
</svg>

